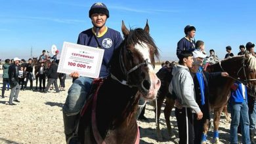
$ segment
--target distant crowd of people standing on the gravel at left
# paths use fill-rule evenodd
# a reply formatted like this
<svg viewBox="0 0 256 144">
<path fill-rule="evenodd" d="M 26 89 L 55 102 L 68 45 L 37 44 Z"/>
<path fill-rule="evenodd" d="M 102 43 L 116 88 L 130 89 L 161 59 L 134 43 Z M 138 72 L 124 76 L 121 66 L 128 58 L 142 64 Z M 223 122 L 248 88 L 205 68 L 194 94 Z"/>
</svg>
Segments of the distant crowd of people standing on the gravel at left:
<svg viewBox="0 0 256 144">
<path fill-rule="evenodd" d="M 50 89 L 53 89 L 52 84 L 56 92 L 65 90 L 66 74 L 57 73 L 59 60 L 57 60 L 56 55 L 58 54 L 58 50 L 56 50 L 53 57 L 48 56 L 45 52 L 46 50 L 43 50 L 43 54 L 39 56 L 39 60 L 32 60 L 32 58 L 29 58 L 28 62 L 24 59 L 20 60 L 20 58 L 5 60 L 5 64 L 3 65 L 1 98 L 5 98 L 5 90 L 11 89 L 9 105 L 16 105 L 13 101 L 20 102 L 18 100 L 20 90 L 33 90 L 47 93 Z M 58 79 L 60 80 L 59 86 L 57 84 Z M 37 87 L 37 82 L 36 86 L 33 86 L 34 80 L 39 80 L 39 87 Z M 27 86 L 28 82 L 30 82 L 29 88 Z"/>
</svg>

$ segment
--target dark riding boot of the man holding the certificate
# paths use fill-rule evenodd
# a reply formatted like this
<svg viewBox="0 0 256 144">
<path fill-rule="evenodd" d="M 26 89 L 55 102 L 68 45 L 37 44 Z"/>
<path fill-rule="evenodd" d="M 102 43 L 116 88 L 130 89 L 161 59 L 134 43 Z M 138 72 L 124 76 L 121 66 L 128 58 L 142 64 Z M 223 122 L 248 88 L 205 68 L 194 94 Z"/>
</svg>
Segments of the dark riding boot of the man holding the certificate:
<svg viewBox="0 0 256 144">
<path fill-rule="evenodd" d="M 79 143 L 78 136 L 75 134 L 77 118 L 78 115 L 67 115 L 63 111 L 64 133 L 68 144 Z"/>
</svg>

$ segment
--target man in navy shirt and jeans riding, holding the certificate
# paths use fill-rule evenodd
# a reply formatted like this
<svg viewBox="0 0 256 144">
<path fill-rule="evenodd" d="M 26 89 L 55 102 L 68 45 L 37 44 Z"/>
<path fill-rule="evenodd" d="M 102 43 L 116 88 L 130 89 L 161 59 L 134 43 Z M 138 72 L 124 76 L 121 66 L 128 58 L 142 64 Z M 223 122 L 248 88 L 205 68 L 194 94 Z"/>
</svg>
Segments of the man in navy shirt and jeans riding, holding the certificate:
<svg viewBox="0 0 256 144">
<path fill-rule="evenodd" d="M 79 45 L 104 49 L 99 76 L 101 78 L 105 78 L 110 74 L 108 63 L 114 50 L 122 42 L 121 34 L 118 31 L 106 27 L 106 20 L 109 16 L 109 11 L 104 3 L 93 4 L 89 10 L 89 18 L 91 18 L 93 27 L 81 32 L 77 40 Z M 64 132 L 67 143 L 77 141 L 77 137 L 74 135 L 77 118 L 79 118 L 79 112 L 88 99 L 87 94 L 89 94 L 93 82 L 92 78 L 79 77 L 77 72 L 71 73 L 70 77 L 77 79 L 70 86 L 68 97 L 63 107 Z"/>
</svg>

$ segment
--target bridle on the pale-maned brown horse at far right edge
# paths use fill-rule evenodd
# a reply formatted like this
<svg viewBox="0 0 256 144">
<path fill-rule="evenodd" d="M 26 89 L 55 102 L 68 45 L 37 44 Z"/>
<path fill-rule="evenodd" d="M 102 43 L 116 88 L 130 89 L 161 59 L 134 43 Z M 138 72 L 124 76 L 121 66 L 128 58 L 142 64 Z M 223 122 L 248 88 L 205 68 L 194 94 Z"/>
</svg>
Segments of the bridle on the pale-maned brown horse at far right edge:
<svg viewBox="0 0 256 144">
<path fill-rule="evenodd" d="M 228 77 L 230 77 L 231 79 L 234 79 L 235 81 L 241 82 L 242 84 L 244 84 L 245 86 L 247 86 L 248 88 L 251 88 L 251 86 L 249 86 L 248 81 L 256 81 L 256 79 L 247 79 L 246 73 L 245 73 L 245 56 L 243 58 L 243 63 L 242 63 L 242 67 L 240 67 L 240 69 L 238 70 L 238 72 L 236 73 L 236 76 L 238 77 L 238 79 L 231 77 L 230 75 L 228 75 Z M 221 67 L 221 70 L 224 71 L 223 67 L 221 66 L 221 62 L 219 62 L 219 66 Z M 238 76 L 238 74 L 240 73 L 240 71 L 243 69 L 244 71 L 244 77 L 245 80 L 240 79 L 240 77 Z"/>
</svg>

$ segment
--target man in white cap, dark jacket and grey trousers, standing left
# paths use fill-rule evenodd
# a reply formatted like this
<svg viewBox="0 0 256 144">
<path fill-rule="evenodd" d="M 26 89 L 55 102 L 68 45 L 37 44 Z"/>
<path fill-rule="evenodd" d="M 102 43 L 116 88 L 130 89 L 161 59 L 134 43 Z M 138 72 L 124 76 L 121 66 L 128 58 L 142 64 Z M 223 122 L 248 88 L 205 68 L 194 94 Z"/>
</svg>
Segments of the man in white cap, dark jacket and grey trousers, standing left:
<svg viewBox="0 0 256 144">
<path fill-rule="evenodd" d="M 13 98 L 14 98 L 13 101 L 20 102 L 18 101 L 18 94 L 20 92 L 20 85 L 18 84 L 18 67 L 19 67 L 20 59 L 14 58 L 13 61 L 14 61 L 14 64 L 10 65 L 9 71 L 8 71 L 9 81 L 11 85 L 9 105 L 16 105 L 12 103 Z"/>
</svg>

